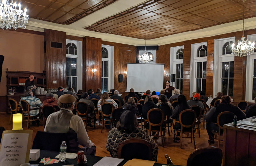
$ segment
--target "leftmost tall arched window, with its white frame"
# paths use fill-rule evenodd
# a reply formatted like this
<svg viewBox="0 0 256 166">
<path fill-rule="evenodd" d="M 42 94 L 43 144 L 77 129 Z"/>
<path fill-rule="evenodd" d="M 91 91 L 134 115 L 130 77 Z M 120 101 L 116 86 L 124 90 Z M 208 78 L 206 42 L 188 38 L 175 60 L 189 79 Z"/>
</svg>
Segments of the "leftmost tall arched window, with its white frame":
<svg viewBox="0 0 256 166">
<path fill-rule="evenodd" d="M 82 89 L 82 42 L 67 40 L 66 45 L 66 88 L 73 87 L 77 92 L 78 89 Z M 61 85 L 64 86 L 64 85 Z"/>
</svg>

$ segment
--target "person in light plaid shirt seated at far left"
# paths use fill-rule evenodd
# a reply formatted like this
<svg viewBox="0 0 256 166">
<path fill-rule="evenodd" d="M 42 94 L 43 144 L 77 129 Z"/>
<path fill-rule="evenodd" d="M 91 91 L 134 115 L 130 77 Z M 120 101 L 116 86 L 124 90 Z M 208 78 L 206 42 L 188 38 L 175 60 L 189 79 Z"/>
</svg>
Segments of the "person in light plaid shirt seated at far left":
<svg viewBox="0 0 256 166">
<path fill-rule="evenodd" d="M 20 100 L 26 100 L 28 102 L 28 104 L 30 105 L 30 109 L 40 108 L 43 105 L 43 103 L 41 102 L 40 99 L 33 97 L 32 91 L 26 91 L 25 97 L 21 97 Z M 36 116 L 38 114 L 39 114 L 39 109 L 29 111 L 30 116 Z"/>
</svg>

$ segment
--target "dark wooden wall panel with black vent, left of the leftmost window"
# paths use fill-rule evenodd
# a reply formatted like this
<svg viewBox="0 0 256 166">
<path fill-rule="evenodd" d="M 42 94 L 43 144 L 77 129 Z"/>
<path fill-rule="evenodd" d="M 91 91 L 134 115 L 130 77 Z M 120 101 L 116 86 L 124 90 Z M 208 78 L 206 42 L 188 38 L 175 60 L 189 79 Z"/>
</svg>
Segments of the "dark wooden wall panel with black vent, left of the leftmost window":
<svg viewBox="0 0 256 166">
<path fill-rule="evenodd" d="M 44 54 L 44 65 L 46 71 L 46 87 L 66 87 L 66 32 L 51 29 L 44 30 L 44 41 L 46 53 Z M 51 41 L 62 43 L 62 49 L 51 48 Z M 57 84 L 52 84 L 57 80 Z"/>
</svg>

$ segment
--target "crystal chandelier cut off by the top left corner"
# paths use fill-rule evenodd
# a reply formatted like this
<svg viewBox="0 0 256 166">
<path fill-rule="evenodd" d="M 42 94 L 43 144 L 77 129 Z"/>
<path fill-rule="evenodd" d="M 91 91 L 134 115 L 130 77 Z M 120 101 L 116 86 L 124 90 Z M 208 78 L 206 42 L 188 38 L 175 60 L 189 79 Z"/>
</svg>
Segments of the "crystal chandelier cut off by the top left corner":
<svg viewBox="0 0 256 166">
<path fill-rule="evenodd" d="M 18 6 L 18 7 L 17 7 Z M 18 9 L 19 8 L 19 9 Z M 9 0 L 2 0 L 0 3 L 0 27 L 4 29 L 17 29 L 17 27 L 26 28 L 28 23 L 28 15 L 26 14 L 27 8 L 24 12 L 20 9 L 21 5 L 13 4 L 13 0 L 9 3 Z"/>
</svg>

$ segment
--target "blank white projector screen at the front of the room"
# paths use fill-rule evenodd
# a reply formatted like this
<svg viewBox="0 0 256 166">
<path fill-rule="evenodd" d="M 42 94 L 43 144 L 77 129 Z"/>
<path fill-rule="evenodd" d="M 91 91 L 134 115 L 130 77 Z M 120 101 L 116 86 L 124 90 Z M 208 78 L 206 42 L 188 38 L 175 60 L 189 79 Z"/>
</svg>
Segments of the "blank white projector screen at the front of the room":
<svg viewBox="0 0 256 166">
<path fill-rule="evenodd" d="M 126 90 L 160 92 L 164 83 L 164 64 L 127 63 Z"/>
</svg>

